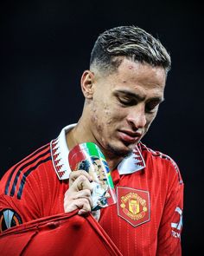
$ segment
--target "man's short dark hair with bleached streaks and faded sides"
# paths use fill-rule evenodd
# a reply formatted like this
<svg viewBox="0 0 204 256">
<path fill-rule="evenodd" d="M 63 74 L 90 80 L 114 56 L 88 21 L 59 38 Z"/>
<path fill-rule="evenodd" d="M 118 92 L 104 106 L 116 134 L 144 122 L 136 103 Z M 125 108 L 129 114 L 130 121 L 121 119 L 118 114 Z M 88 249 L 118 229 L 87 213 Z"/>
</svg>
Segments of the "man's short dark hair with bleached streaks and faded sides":
<svg viewBox="0 0 204 256">
<path fill-rule="evenodd" d="M 171 66 L 169 53 L 158 39 L 136 26 L 120 26 L 99 35 L 92 49 L 90 69 L 110 74 L 124 57 L 162 67 L 166 73 Z"/>
</svg>

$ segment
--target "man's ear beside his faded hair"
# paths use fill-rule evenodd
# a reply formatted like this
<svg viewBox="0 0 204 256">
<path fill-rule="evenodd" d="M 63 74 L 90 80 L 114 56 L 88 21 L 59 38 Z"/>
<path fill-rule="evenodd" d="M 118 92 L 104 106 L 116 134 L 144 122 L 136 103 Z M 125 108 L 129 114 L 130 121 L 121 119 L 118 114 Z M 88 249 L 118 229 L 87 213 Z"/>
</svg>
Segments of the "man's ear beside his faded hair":
<svg viewBox="0 0 204 256">
<path fill-rule="evenodd" d="M 80 79 L 81 90 L 86 99 L 92 99 L 94 74 L 90 70 L 85 70 Z"/>
</svg>

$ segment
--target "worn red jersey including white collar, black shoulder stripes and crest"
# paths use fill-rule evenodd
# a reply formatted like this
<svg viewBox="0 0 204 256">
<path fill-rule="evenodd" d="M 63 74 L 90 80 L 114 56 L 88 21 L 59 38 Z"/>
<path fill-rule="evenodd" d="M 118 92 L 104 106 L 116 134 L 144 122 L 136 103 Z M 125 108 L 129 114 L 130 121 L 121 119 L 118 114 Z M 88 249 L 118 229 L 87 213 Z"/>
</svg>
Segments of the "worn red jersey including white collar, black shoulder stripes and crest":
<svg viewBox="0 0 204 256">
<path fill-rule="evenodd" d="M 64 212 L 67 130 L 4 174 L 1 231 Z M 181 255 L 183 182 L 175 162 L 138 143 L 112 171 L 118 203 L 101 209 L 99 225 L 122 255 Z"/>
</svg>

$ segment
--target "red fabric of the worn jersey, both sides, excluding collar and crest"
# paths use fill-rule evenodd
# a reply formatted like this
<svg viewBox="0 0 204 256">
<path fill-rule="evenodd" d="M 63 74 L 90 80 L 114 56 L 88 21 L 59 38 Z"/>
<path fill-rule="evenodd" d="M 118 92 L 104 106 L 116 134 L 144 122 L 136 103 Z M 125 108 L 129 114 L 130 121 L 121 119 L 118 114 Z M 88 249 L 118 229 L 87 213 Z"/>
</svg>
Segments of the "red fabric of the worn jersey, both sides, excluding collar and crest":
<svg viewBox="0 0 204 256">
<path fill-rule="evenodd" d="M 150 194 L 150 220 L 132 226 L 128 217 L 124 220 L 119 216 L 121 202 L 118 198 L 117 205 L 101 210 L 99 225 L 123 255 L 180 256 L 182 228 L 172 227 L 172 223 L 181 221 L 181 214 L 176 212 L 176 207 L 181 211 L 183 207 L 180 172 L 169 156 L 154 152 L 143 144 L 138 146 L 146 167 L 125 175 L 119 175 L 116 169 L 112 172 L 112 178 L 115 187 L 129 187 Z M 68 181 L 59 181 L 54 172 L 47 145 L 10 168 L 3 176 L 0 183 L 0 211 L 6 208 L 15 210 L 23 223 L 63 213 L 67 188 Z"/>
</svg>

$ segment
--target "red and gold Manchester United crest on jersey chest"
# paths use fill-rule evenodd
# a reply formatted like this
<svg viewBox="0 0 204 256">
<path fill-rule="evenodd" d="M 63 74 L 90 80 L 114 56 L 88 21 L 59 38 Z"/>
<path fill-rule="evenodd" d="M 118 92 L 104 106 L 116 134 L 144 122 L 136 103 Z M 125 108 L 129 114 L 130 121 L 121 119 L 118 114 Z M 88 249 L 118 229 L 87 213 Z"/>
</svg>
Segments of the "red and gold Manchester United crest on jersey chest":
<svg viewBox="0 0 204 256">
<path fill-rule="evenodd" d="M 117 187 L 118 215 L 138 226 L 150 220 L 150 194 L 131 187 Z"/>
</svg>

